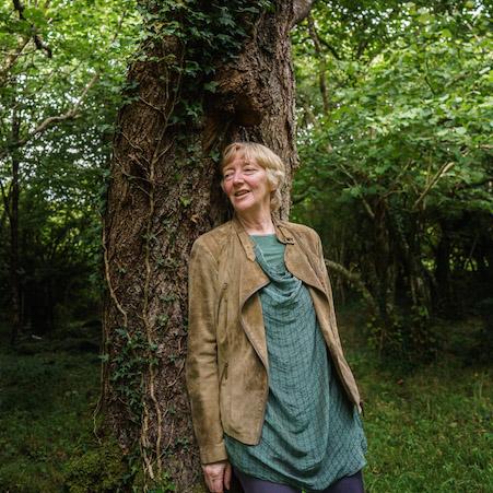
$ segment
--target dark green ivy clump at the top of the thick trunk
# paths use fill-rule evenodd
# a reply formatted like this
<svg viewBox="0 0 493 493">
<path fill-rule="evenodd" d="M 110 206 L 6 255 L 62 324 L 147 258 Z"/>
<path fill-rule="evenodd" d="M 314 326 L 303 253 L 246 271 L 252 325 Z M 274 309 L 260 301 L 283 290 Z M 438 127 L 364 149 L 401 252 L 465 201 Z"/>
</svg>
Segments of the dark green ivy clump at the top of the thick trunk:
<svg viewBox="0 0 493 493">
<path fill-rule="evenodd" d="M 167 69 L 167 83 L 174 82 L 174 108 L 167 121 L 187 125 L 200 121 L 203 99 L 216 91 L 213 79 L 218 67 L 239 54 L 255 16 L 271 9 L 271 1 L 164 0 L 140 2 L 138 8 L 142 28 L 133 59 Z M 168 39 L 179 44 L 179 56 L 166 50 L 159 55 L 157 47 Z"/>
</svg>

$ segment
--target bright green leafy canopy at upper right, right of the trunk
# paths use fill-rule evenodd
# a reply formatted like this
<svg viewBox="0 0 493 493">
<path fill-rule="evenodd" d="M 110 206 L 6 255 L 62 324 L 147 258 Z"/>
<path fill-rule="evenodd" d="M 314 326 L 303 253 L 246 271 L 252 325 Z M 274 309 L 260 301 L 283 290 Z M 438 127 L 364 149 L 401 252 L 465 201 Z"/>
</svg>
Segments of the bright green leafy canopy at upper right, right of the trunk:
<svg viewBox="0 0 493 493">
<path fill-rule="evenodd" d="M 320 185 L 344 184 L 340 200 L 349 202 L 399 196 L 398 207 L 412 212 L 432 177 L 450 163 L 427 196 L 430 207 L 492 212 L 491 193 L 481 186 L 491 171 L 493 116 L 488 20 L 468 13 L 470 27 L 451 39 L 444 30 L 456 32 L 466 14 L 430 13 L 433 22 L 423 30 L 423 12 L 411 15 L 413 24 L 396 45 L 369 63 L 351 62 L 352 83 L 343 79 L 333 87 L 330 115 L 301 139 L 298 187 L 317 193 Z"/>
</svg>

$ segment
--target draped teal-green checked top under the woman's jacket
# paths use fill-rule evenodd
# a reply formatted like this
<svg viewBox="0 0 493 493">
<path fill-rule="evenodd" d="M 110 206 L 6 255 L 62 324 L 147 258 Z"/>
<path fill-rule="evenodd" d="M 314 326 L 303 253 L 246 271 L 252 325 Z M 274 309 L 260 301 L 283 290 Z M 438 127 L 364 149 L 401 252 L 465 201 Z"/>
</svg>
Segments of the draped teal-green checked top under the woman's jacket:
<svg viewBox="0 0 493 493">
<path fill-rule="evenodd" d="M 270 283 L 259 292 L 269 355 L 260 443 L 224 436 L 231 463 L 255 478 L 320 491 L 365 463 L 360 415 L 336 376 L 309 291 L 284 265 L 275 235 L 251 236 Z"/>
</svg>

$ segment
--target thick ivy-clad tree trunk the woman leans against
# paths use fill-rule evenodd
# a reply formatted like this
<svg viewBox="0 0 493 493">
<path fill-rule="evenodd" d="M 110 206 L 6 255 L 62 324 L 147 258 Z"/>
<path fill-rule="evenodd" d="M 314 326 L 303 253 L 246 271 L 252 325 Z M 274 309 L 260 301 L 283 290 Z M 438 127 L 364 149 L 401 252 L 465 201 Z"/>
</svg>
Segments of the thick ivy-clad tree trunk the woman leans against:
<svg viewBox="0 0 493 493">
<path fill-rule="evenodd" d="M 103 232 L 102 409 L 124 449 L 132 455 L 138 446 L 144 488 L 167 478 L 179 492 L 201 491 L 183 372 L 187 261 L 197 236 L 227 219 L 216 168 L 227 143 L 261 142 L 284 160 L 281 215 L 289 212 L 297 160 L 289 39 L 295 5 L 279 0 L 269 13 L 245 13 L 244 3 L 224 2 L 221 11 L 245 30 L 227 60 L 208 52 L 207 36 L 199 44 L 176 27 L 169 34 L 173 21 L 185 30 L 196 17 L 178 8 L 151 11 L 148 30 L 166 35 L 148 38 L 131 64 L 130 102 L 118 116 Z M 214 8 L 197 2 L 193 15 L 209 16 L 211 28 Z M 207 60 L 215 63 L 209 73 Z"/>
</svg>

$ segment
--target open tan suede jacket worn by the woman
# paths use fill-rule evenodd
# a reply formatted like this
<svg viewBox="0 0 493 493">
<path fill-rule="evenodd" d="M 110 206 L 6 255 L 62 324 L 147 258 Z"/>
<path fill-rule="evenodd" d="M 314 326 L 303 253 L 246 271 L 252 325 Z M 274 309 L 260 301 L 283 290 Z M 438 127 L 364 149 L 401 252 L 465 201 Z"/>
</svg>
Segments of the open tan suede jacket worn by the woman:
<svg viewBox="0 0 493 493">
<path fill-rule="evenodd" d="M 286 268 L 308 286 L 342 386 L 361 411 L 356 383 L 342 354 L 320 238 L 301 224 L 274 221 L 274 226 L 286 245 Z M 195 242 L 186 378 L 202 463 L 227 458 L 223 432 L 248 445 L 260 439 L 269 361 L 258 291 L 268 282 L 255 261 L 254 243 L 236 218 Z"/>
</svg>

